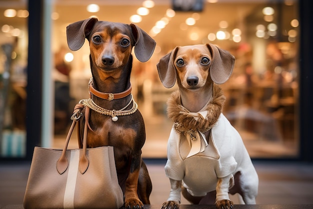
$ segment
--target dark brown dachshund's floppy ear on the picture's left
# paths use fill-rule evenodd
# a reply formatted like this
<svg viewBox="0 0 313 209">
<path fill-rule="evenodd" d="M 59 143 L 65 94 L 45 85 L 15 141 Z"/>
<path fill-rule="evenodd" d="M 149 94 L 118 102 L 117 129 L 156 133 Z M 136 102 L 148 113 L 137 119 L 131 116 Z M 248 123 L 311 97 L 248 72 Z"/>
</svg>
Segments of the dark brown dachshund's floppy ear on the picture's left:
<svg viewBox="0 0 313 209">
<path fill-rule="evenodd" d="M 96 18 L 89 18 L 83 21 L 72 23 L 66 27 L 66 39 L 68 48 L 77 51 L 82 47 L 85 38 L 90 34 L 94 24 L 98 21 Z"/>
</svg>

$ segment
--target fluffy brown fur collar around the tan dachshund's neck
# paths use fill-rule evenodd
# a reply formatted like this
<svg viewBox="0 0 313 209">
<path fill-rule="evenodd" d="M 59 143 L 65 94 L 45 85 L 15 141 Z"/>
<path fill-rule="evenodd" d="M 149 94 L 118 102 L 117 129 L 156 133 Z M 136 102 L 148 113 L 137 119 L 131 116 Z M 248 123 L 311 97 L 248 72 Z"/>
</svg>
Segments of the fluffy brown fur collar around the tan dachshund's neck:
<svg viewBox="0 0 313 209">
<path fill-rule="evenodd" d="M 167 116 L 174 122 L 175 130 L 178 133 L 201 131 L 202 133 L 210 130 L 217 122 L 222 112 L 225 96 L 221 88 L 213 84 L 212 98 L 203 107 L 207 111 L 204 118 L 200 113 L 189 112 L 181 104 L 179 90 L 174 91 L 167 100 Z"/>
</svg>

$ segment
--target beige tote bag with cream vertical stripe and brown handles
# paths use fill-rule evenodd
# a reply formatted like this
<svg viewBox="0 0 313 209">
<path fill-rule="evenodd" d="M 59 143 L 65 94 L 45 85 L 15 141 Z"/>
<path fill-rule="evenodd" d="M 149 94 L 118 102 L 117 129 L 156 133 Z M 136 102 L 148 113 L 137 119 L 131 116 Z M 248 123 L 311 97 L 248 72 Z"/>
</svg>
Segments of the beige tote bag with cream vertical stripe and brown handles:
<svg viewBox="0 0 313 209">
<path fill-rule="evenodd" d="M 123 205 L 113 147 L 86 148 L 85 123 L 82 149 L 67 150 L 76 123 L 73 120 L 63 150 L 34 147 L 24 195 L 25 209 L 112 209 Z"/>
</svg>

